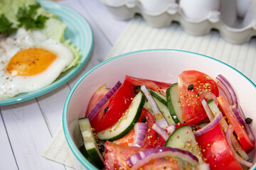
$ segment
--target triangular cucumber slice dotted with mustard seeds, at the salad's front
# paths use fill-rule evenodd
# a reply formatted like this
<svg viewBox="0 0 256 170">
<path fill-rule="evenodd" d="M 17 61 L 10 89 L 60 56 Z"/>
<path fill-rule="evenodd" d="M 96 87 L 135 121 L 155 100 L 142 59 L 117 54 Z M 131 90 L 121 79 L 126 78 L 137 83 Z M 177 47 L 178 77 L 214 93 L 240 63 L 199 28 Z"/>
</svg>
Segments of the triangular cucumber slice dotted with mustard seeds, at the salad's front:
<svg viewBox="0 0 256 170">
<path fill-rule="evenodd" d="M 183 125 L 174 130 L 169 139 L 166 141 L 166 147 L 176 147 L 191 152 L 198 157 L 198 163 L 203 163 L 202 154 L 189 125 Z"/>
</svg>

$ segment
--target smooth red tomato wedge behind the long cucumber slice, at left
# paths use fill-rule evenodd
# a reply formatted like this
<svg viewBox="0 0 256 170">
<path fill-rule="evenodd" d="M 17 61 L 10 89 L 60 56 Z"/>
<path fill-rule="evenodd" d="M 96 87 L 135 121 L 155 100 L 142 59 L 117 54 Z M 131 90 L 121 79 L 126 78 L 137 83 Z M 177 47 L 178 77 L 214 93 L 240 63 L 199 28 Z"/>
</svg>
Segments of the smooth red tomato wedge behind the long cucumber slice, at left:
<svg viewBox="0 0 256 170">
<path fill-rule="evenodd" d="M 96 132 L 110 128 L 121 118 L 122 113 L 127 111 L 127 108 L 129 108 L 129 105 L 132 103 L 132 98 L 134 98 L 134 89 L 132 86 L 127 83 L 122 84 L 110 99 L 108 106 L 106 106 L 106 104 L 104 108 L 92 118 L 90 121 L 92 128 L 95 128 Z M 105 108 L 108 108 L 107 113 L 105 113 Z"/>
</svg>

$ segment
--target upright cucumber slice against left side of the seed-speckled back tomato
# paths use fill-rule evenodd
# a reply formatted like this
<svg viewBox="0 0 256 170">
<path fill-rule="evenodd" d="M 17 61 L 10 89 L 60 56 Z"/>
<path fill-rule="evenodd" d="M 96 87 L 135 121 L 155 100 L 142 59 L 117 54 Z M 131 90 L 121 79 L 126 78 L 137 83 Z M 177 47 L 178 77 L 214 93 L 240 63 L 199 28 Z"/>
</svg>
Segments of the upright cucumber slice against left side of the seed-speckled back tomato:
<svg viewBox="0 0 256 170">
<path fill-rule="evenodd" d="M 172 84 L 166 91 L 167 106 L 174 123 L 181 123 L 182 110 L 179 102 L 178 84 Z"/>
</svg>

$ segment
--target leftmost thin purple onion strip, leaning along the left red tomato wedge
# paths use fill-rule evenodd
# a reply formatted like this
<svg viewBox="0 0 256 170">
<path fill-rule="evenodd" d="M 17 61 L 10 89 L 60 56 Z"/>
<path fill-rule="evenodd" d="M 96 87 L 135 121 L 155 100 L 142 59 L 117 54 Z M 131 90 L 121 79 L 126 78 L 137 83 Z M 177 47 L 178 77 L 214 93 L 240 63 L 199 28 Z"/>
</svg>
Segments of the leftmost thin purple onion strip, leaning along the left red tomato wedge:
<svg viewBox="0 0 256 170">
<path fill-rule="evenodd" d="M 110 100 L 110 98 L 114 95 L 114 93 L 119 89 L 121 85 L 122 83 L 118 81 L 117 84 L 115 84 L 114 87 L 110 89 L 110 91 L 108 91 L 107 94 L 105 94 L 105 96 L 103 96 L 100 99 L 100 101 L 95 105 L 95 107 L 92 108 L 92 111 L 90 111 L 90 113 L 87 115 L 89 120 L 92 120 L 92 118 L 95 117 L 95 115 L 100 111 L 100 109 L 105 105 L 105 103 L 107 103 L 107 101 Z"/>
</svg>

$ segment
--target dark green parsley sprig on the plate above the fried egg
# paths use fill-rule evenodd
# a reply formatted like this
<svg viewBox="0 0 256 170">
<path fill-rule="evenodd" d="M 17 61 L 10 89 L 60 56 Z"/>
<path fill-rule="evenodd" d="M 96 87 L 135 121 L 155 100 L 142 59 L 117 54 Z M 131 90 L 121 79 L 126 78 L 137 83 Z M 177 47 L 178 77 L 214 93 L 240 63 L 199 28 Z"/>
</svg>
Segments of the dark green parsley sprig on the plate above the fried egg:
<svg viewBox="0 0 256 170">
<path fill-rule="evenodd" d="M 36 16 L 36 11 L 40 7 L 40 4 L 34 4 L 28 8 L 19 8 L 16 15 L 18 21 L 18 26 L 16 27 L 14 27 L 14 23 L 11 23 L 8 18 L 2 14 L 0 16 L 0 33 L 10 35 L 21 27 L 26 29 L 43 28 L 48 17 L 43 15 Z"/>
</svg>

